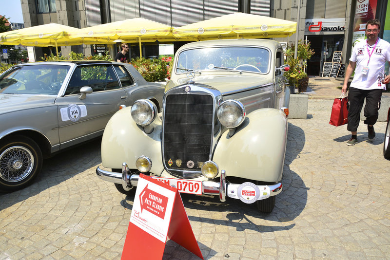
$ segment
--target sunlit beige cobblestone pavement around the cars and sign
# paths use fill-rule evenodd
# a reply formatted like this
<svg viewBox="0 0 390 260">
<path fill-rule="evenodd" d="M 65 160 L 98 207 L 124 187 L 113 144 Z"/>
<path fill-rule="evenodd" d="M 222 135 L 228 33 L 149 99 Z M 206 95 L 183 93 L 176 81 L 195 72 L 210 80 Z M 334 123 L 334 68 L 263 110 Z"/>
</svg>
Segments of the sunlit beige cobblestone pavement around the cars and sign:
<svg viewBox="0 0 390 260">
<path fill-rule="evenodd" d="M 390 162 L 385 122 L 373 143 L 361 121 L 328 124 L 332 100 L 309 100 L 308 119 L 289 120 L 284 189 L 273 213 L 239 201 L 182 195 L 205 259 L 390 259 Z M 44 162 L 38 181 L 0 194 L 0 260 L 120 259 L 133 198 L 95 174 L 100 143 Z M 163 259 L 198 259 L 167 241 Z"/>
</svg>

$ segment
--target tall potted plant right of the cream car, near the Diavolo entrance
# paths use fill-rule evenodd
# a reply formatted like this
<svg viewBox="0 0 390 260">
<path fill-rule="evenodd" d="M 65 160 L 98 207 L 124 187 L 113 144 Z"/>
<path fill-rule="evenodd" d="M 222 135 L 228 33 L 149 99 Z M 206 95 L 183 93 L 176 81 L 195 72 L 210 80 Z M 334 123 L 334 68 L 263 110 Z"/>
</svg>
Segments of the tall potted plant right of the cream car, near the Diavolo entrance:
<svg viewBox="0 0 390 260">
<path fill-rule="evenodd" d="M 309 84 L 309 77 L 306 74 L 306 60 L 312 57 L 314 51 L 310 48 L 310 42 L 304 43 L 302 40 L 298 42 L 296 58 L 294 58 L 294 49 L 294 44 L 286 49 L 284 62 L 290 65 L 290 70 L 285 72 L 284 76 L 288 79 L 289 84 L 294 86 L 294 89 L 298 89 L 298 92 L 306 92 Z"/>
</svg>

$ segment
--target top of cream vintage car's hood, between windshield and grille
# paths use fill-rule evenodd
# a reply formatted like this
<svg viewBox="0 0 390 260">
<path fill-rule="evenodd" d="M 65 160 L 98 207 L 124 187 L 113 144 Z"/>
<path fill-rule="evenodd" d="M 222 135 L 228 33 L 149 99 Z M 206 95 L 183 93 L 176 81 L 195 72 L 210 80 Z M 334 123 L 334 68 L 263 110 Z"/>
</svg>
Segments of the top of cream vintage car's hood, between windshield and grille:
<svg viewBox="0 0 390 260">
<path fill-rule="evenodd" d="M 253 88 L 261 85 L 270 83 L 270 77 L 268 75 L 212 75 L 212 74 L 201 74 L 195 76 L 192 79 L 195 84 L 209 85 L 221 93 L 230 93 L 239 91 L 246 88 Z M 185 84 L 189 79 L 187 77 L 179 77 L 172 79 L 168 82 L 166 90 L 169 90 L 177 85 Z"/>
</svg>

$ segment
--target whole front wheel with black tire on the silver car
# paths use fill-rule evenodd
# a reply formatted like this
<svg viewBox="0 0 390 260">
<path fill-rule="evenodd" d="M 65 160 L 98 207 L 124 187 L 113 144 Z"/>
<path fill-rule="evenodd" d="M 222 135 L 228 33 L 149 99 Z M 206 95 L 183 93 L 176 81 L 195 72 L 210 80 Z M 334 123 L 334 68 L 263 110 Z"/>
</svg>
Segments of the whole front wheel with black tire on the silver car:
<svg viewBox="0 0 390 260">
<path fill-rule="evenodd" d="M 30 185 L 42 167 L 36 142 L 21 135 L 0 143 L 0 190 L 14 191 Z"/>
</svg>

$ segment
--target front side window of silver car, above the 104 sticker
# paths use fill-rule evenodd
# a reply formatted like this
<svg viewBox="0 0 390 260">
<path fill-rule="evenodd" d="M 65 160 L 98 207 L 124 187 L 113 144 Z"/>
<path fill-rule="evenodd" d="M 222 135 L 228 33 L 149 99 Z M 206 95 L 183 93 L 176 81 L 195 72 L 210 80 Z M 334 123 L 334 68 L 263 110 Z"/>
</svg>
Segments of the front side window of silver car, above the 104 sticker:
<svg viewBox="0 0 390 260">
<path fill-rule="evenodd" d="M 84 86 L 93 92 L 119 89 L 119 82 L 110 65 L 80 66 L 75 69 L 66 88 L 65 95 L 78 94 Z"/>
</svg>

